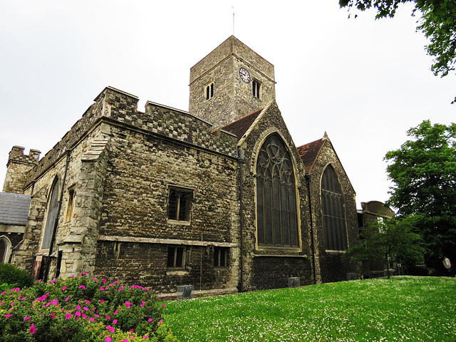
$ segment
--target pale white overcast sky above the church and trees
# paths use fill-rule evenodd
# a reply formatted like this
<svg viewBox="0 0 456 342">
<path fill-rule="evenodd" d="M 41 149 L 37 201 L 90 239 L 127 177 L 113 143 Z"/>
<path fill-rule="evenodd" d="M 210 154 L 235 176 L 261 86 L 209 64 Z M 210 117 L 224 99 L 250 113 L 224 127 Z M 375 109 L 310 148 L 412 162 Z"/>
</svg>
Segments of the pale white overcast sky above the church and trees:
<svg viewBox="0 0 456 342">
<path fill-rule="evenodd" d="M 43 157 L 105 86 L 188 110 L 190 67 L 232 35 L 232 6 L 294 142 L 328 133 L 358 207 L 389 198 L 383 157 L 408 128 L 455 121 L 456 78 L 430 72 L 411 6 L 375 21 L 337 0 L 0 0 L 0 190 L 13 145 Z"/>
</svg>

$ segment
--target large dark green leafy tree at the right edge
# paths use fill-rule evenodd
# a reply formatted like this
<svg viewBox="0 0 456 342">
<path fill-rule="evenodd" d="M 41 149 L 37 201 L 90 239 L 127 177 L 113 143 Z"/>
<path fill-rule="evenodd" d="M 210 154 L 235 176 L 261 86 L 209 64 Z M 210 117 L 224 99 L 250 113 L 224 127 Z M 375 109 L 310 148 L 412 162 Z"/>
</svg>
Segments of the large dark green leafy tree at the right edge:
<svg viewBox="0 0 456 342">
<path fill-rule="evenodd" d="M 399 150 L 386 154 L 388 204 L 399 216 L 415 215 L 417 232 L 430 257 L 450 255 L 456 244 L 456 124 L 423 121 L 408 130 Z"/>
</svg>

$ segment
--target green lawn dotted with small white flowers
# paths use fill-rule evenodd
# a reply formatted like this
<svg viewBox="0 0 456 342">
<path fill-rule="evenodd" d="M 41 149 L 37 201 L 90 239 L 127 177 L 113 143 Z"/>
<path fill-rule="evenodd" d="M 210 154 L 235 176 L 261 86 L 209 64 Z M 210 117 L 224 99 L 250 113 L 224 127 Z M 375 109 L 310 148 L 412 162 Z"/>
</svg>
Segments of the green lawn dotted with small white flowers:
<svg viewBox="0 0 456 342">
<path fill-rule="evenodd" d="M 180 341 L 456 341 L 456 279 L 395 276 L 170 301 Z"/>
</svg>

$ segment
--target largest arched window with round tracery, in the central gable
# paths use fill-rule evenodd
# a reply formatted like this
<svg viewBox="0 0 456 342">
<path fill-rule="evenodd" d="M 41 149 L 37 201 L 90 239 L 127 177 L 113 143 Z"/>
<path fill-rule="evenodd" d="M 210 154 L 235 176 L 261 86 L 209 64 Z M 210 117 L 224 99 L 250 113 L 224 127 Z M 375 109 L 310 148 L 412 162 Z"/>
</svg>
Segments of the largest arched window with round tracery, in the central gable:
<svg viewBox="0 0 456 342">
<path fill-rule="evenodd" d="M 293 164 L 276 134 L 257 157 L 257 233 L 259 246 L 299 247 Z"/>
</svg>

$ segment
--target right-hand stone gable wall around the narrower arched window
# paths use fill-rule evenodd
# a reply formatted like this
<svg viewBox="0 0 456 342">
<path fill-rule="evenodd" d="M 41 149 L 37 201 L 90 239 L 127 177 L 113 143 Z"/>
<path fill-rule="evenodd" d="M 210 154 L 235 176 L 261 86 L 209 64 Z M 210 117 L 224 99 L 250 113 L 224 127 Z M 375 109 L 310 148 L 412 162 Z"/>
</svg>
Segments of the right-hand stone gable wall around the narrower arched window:
<svg viewBox="0 0 456 342">
<path fill-rule="evenodd" d="M 348 234 L 348 247 L 353 245 L 356 241 L 356 236 L 358 235 L 355 191 L 348 179 L 348 175 L 346 175 L 345 170 L 343 170 L 340 160 L 338 160 L 336 152 L 333 150 L 331 142 L 326 140 L 321 147 L 320 154 L 318 155 L 314 167 L 311 170 L 310 180 L 317 278 L 323 283 L 346 280 L 347 272 L 356 271 L 356 265 L 348 264 L 348 262 L 341 259 L 342 253 L 326 252 L 324 246 L 320 184 L 323 171 L 328 164 L 332 165 L 342 187 Z"/>
</svg>

